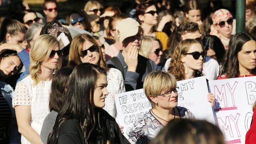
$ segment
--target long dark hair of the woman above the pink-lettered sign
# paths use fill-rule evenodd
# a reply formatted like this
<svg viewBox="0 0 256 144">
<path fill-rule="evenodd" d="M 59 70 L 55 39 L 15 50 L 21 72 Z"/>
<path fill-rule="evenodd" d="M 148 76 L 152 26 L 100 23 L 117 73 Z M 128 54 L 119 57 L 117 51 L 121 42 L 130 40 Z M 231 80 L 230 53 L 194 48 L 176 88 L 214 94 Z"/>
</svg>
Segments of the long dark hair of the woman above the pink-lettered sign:
<svg viewBox="0 0 256 144">
<path fill-rule="evenodd" d="M 255 37 L 250 33 L 242 32 L 236 33 L 229 42 L 227 59 L 224 66 L 220 70 L 220 74 L 225 74 L 227 78 L 237 78 L 239 75 L 239 61 L 237 53 L 241 51 L 245 42 L 253 40 L 256 42 Z M 256 68 L 252 71 L 255 72 Z"/>
</svg>

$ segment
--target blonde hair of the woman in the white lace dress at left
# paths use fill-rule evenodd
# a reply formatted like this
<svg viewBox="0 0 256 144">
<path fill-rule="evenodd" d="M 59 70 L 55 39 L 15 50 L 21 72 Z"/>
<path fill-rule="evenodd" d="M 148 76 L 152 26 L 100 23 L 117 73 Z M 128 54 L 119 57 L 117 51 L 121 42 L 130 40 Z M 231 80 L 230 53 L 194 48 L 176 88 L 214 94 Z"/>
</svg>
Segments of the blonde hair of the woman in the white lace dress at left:
<svg viewBox="0 0 256 144">
<path fill-rule="evenodd" d="M 59 42 L 56 37 L 52 35 L 40 35 L 35 40 L 30 51 L 30 76 L 34 81 L 33 85 L 37 85 L 42 81 L 41 77 L 41 65 L 43 61 L 50 58 L 50 53 Z M 61 67 L 61 61 L 58 61 L 58 68 Z"/>
</svg>

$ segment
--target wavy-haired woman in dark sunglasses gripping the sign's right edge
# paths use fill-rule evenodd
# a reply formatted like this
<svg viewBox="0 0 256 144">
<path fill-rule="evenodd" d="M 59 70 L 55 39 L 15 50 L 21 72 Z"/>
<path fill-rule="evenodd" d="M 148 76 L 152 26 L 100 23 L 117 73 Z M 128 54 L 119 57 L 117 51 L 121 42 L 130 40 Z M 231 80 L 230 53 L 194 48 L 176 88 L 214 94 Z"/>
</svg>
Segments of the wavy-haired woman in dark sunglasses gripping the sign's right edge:
<svg viewBox="0 0 256 144">
<path fill-rule="evenodd" d="M 202 66 L 207 52 L 203 51 L 202 44 L 196 39 L 185 39 L 176 46 L 168 72 L 173 74 L 177 81 L 203 76 Z M 209 93 L 208 102 L 214 105 L 215 96 Z"/>
</svg>

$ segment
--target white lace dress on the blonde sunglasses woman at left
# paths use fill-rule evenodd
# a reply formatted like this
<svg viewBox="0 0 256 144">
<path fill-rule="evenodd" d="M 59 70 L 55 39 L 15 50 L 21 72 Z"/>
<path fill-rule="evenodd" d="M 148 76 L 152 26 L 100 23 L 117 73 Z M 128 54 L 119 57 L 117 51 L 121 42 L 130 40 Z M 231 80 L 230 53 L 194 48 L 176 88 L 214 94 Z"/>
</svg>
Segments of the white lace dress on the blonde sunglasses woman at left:
<svg viewBox="0 0 256 144">
<path fill-rule="evenodd" d="M 49 96 L 52 81 L 42 81 L 33 86 L 30 76 L 22 79 L 16 85 L 13 97 L 13 107 L 17 105 L 31 105 L 31 127 L 40 135 L 44 119 L 49 111 Z M 22 144 L 30 144 L 21 135 Z"/>
</svg>

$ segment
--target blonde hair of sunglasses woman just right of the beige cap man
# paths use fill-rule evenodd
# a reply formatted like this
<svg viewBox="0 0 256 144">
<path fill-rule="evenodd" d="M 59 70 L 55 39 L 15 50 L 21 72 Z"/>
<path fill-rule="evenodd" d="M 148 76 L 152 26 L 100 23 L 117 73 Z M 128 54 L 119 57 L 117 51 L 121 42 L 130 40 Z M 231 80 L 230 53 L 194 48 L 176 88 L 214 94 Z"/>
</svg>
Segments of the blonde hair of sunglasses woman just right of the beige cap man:
<svg viewBox="0 0 256 144">
<path fill-rule="evenodd" d="M 160 47 L 162 47 L 161 42 L 156 37 L 143 36 L 141 40 L 141 48 L 139 49 L 139 54 L 142 55 L 143 57 L 148 58 L 150 50 L 153 46 L 153 41 L 158 41 L 160 44 Z"/>
</svg>

